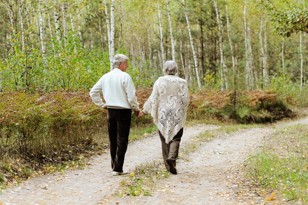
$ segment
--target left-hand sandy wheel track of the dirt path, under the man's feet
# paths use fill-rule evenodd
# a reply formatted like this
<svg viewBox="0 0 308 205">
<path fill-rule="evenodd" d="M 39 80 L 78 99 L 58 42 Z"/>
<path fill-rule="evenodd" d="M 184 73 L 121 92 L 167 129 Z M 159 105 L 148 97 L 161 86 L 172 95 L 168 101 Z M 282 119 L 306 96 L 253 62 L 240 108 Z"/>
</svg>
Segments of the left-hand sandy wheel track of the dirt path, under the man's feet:
<svg viewBox="0 0 308 205">
<path fill-rule="evenodd" d="M 181 145 L 191 137 L 214 125 L 197 125 L 184 128 Z M 132 170 L 136 164 L 161 156 L 158 134 L 133 141 L 128 146 L 124 170 Z M 109 153 L 92 157 L 84 170 L 67 171 L 23 181 L 19 187 L 0 193 L 3 204 L 93 204 L 119 189 L 121 176 L 112 176 Z"/>
</svg>

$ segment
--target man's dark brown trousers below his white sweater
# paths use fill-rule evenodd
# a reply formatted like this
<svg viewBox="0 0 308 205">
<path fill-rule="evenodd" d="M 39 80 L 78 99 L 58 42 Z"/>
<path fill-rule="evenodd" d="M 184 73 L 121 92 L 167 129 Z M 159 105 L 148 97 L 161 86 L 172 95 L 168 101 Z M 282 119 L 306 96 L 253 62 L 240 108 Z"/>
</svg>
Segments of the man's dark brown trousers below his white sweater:
<svg viewBox="0 0 308 205">
<path fill-rule="evenodd" d="M 113 171 L 123 172 L 124 157 L 128 145 L 132 110 L 107 108 L 107 126 Z"/>
</svg>

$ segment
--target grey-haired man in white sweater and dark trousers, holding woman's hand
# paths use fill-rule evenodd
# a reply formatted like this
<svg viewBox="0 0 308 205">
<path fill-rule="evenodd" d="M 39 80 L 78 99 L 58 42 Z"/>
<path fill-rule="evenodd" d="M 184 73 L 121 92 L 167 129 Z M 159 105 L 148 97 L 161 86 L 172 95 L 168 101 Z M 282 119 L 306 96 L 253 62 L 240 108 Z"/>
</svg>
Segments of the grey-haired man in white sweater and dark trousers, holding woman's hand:
<svg viewBox="0 0 308 205">
<path fill-rule="evenodd" d="M 116 54 L 113 65 L 115 68 L 104 74 L 93 86 L 90 96 L 96 105 L 107 109 L 112 175 L 123 175 L 127 174 L 127 171 L 123 171 L 123 163 L 128 145 L 132 109 L 136 116 L 140 109 L 132 78 L 126 73 L 128 57 Z M 100 98 L 101 91 L 106 103 Z"/>
</svg>

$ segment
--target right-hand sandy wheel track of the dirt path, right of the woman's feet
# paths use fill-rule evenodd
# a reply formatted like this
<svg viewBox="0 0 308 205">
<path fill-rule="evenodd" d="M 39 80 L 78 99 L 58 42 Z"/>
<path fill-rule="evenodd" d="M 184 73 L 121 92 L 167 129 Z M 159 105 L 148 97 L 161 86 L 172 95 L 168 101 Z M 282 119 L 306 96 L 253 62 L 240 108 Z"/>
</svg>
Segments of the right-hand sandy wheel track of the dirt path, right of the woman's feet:
<svg viewBox="0 0 308 205">
<path fill-rule="evenodd" d="M 186 160 L 179 160 L 178 175 L 162 180 L 160 188 L 151 197 L 124 197 L 115 199 L 120 204 L 238 204 L 243 169 L 241 164 L 251 151 L 260 146 L 270 128 L 251 128 L 205 143 Z M 258 200 L 258 196 L 249 199 Z M 239 199 L 243 198 L 243 199 Z M 250 200 L 251 201 L 251 200 Z M 249 201 L 249 204 L 250 204 Z M 111 203 L 115 204 L 115 203 Z"/>
</svg>

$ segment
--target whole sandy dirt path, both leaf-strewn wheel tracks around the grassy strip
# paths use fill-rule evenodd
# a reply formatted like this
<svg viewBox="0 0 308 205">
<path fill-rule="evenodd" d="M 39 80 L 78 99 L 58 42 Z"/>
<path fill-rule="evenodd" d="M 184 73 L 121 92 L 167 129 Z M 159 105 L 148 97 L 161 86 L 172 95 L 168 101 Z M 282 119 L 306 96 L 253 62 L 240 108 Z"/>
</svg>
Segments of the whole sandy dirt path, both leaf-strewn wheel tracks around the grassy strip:
<svg viewBox="0 0 308 205">
<path fill-rule="evenodd" d="M 277 124 L 308 124 L 308 118 Z M 184 128 L 177 161 L 177 175 L 158 179 L 151 196 L 125 194 L 132 175 L 112 176 L 110 155 L 89 159 L 83 170 L 47 174 L 22 181 L 0 193 L 0 204 L 263 204 L 271 193 L 255 187 L 246 176 L 245 159 L 255 153 L 276 131 L 273 125 L 237 129 L 227 133 L 224 126 L 199 124 Z M 212 139 L 198 141 L 201 133 L 220 130 Z M 193 142 L 196 146 L 191 149 Z M 164 168 L 157 133 L 128 145 L 124 170 L 157 160 Z M 122 193 L 122 194 L 121 194 Z M 124 193 L 124 194 L 123 194 Z M 275 204 L 285 203 L 279 193 Z M 268 202 L 267 202 L 268 203 Z M 273 202 L 270 202 L 273 203 Z"/>
</svg>

